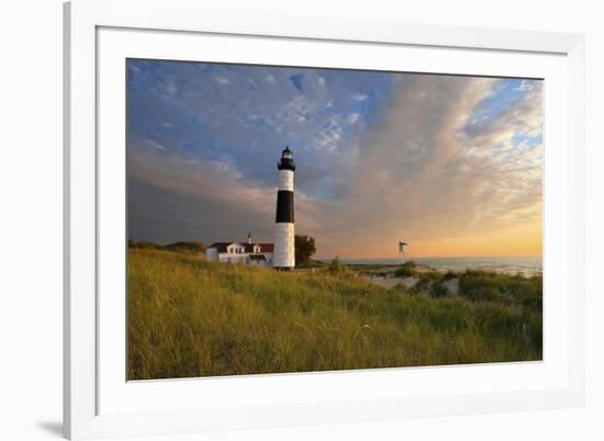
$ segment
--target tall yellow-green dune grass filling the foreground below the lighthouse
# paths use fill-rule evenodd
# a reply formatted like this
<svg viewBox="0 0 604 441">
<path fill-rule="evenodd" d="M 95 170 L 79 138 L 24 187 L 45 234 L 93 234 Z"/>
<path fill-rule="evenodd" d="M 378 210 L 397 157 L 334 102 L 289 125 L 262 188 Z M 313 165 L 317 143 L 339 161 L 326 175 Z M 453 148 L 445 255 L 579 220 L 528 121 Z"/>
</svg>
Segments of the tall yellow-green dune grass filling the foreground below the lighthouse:
<svg viewBox="0 0 604 441">
<path fill-rule="evenodd" d="M 466 275 L 458 298 L 433 298 L 353 270 L 282 273 L 131 248 L 127 377 L 540 360 L 538 282 Z"/>
</svg>

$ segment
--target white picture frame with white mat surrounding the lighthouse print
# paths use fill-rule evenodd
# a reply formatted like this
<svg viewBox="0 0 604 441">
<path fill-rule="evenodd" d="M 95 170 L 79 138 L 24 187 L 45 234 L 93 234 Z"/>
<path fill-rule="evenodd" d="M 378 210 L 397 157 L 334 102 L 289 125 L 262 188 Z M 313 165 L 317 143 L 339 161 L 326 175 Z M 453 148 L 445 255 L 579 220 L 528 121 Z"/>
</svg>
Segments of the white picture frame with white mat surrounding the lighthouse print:
<svg viewBox="0 0 604 441">
<path fill-rule="evenodd" d="M 181 43 L 178 50 L 170 49 L 177 47 L 174 38 Z M 553 186 L 545 191 L 545 321 L 552 330 L 550 337 L 552 332 L 558 333 L 556 339 L 549 339 L 549 355 L 546 344 L 544 362 L 537 365 L 497 363 L 462 369 L 251 375 L 215 382 L 204 382 L 203 378 L 143 382 L 127 386 L 125 391 L 125 378 L 122 382 L 119 378 L 120 370 L 123 371 L 123 364 L 120 364 L 123 350 L 119 344 L 108 344 L 119 341 L 123 333 L 111 333 L 103 326 L 108 317 L 113 321 L 123 319 L 123 312 L 113 313 L 113 304 L 99 295 L 99 286 L 104 285 L 104 273 L 100 275 L 99 264 L 108 259 L 105 250 L 111 250 L 102 242 L 107 235 L 99 237 L 99 231 L 102 228 L 109 234 L 113 231 L 105 227 L 108 210 L 99 210 L 102 203 L 100 193 L 112 191 L 102 177 L 123 174 L 120 169 L 123 161 L 118 165 L 122 151 L 110 150 L 103 143 L 112 139 L 112 134 L 120 133 L 121 123 L 115 120 L 115 124 L 110 122 L 101 126 L 99 121 L 104 114 L 115 114 L 120 99 L 123 99 L 112 100 L 112 97 L 119 97 L 113 92 L 120 91 L 119 81 L 110 79 L 116 72 L 112 63 L 119 64 L 120 59 L 132 56 L 128 50 L 134 49 L 131 48 L 147 56 L 194 59 L 195 47 L 203 42 L 199 38 L 238 38 L 242 44 L 249 41 L 250 48 L 258 46 L 257 54 L 268 50 L 260 47 L 260 43 L 254 43 L 260 41 L 265 42 L 262 44 L 277 42 L 301 48 L 305 44 L 337 44 L 342 45 L 343 52 L 346 52 L 346 45 L 356 45 L 357 49 L 362 46 L 362 50 L 368 50 L 366 59 L 371 59 L 371 53 L 382 49 L 406 50 L 410 59 L 415 59 L 412 53 L 418 54 L 416 69 L 427 69 L 423 71 L 441 69 L 436 65 L 433 68 L 428 63 L 430 57 L 422 55 L 438 50 L 443 55 L 438 63 L 447 63 L 444 59 L 450 58 L 449 74 L 544 77 L 546 90 L 549 78 L 555 90 L 546 93 L 546 182 L 552 182 Z M 153 44 L 145 43 L 145 39 Z M 116 44 L 120 42 L 123 44 Z M 583 37 L 571 34 L 324 18 L 226 15 L 204 10 L 201 2 L 194 0 L 76 0 L 66 3 L 65 436 L 70 439 L 157 436 L 581 406 L 584 396 L 583 52 Z M 254 60 L 257 54 L 248 50 L 237 57 Z M 234 52 L 225 52 L 224 59 L 220 60 L 233 60 L 234 56 Z M 214 55 L 213 60 L 215 57 L 221 56 Z M 315 54 L 315 57 L 320 55 Z M 477 57 L 482 57 L 480 59 L 489 66 L 477 68 L 476 59 L 472 61 Z M 523 63 L 507 60 L 514 57 L 524 57 Z M 289 59 L 282 58 L 280 63 L 288 64 Z M 301 63 L 299 58 L 289 63 L 295 61 Z M 379 57 L 372 63 L 378 61 Z M 338 63 L 345 64 L 346 60 L 342 58 Z M 321 63 L 321 66 L 327 65 L 326 60 Z M 548 97 L 551 97 L 549 105 L 558 104 L 549 113 Z M 104 121 L 108 120 L 104 118 L 102 124 Z M 109 128 L 103 132 L 105 127 Z M 548 167 L 551 167 L 550 174 Z M 557 179 L 551 179 L 551 176 Z M 113 191 L 123 192 L 121 181 L 118 179 L 116 182 Z M 559 197 L 548 197 L 553 193 Z M 116 203 L 124 210 L 123 203 Z M 551 235 L 564 238 L 563 244 L 557 246 L 556 255 L 551 247 L 548 248 L 547 236 Z M 119 239 L 123 238 L 120 236 Z M 114 260 L 115 255 L 110 252 L 109 259 L 112 258 Z M 552 269 L 550 274 L 560 279 L 548 281 L 548 269 Z M 568 284 L 571 279 L 572 292 Z M 549 304 L 553 306 L 547 305 L 548 297 L 552 298 Z M 99 314 L 101 307 L 102 315 Z M 115 328 L 123 330 L 120 326 Z M 116 370 L 112 365 L 118 366 Z M 111 374 L 114 371 L 118 375 Z M 480 381 L 492 383 L 494 377 L 501 378 L 496 389 L 485 392 L 486 387 L 477 386 Z M 439 384 L 435 382 L 438 378 L 443 381 L 443 389 L 425 394 L 402 394 L 395 387 L 390 387 L 387 393 L 385 388 L 363 388 L 360 385 L 350 392 L 349 387 L 350 384 L 406 384 L 405 381 L 420 385 L 422 381 Z M 477 384 L 470 384 L 469 378 L 476 378 Z M 452 382 L 455 388 L 445 389 L 445 385 Z M 191 393 L 202 391 L 198 387 L 204 387 L 210 399 L 217 397 L 221 391 L 225 392 L 221 395 L 228 399 L 216 400 L 214 406 L 202 404 L 195 398 L 199 394 Z M 127 395 L 131 391 L 134 391 L 133 395 Z M 237 394 L 237 391 L 245 391 L 245 394 Z M 262 391 L 261 395 L 259 391 Z M 280 391 L 288 391 L 287 399 L 279 396 Z M 313 395 L 309 391 L 321 393 Z M 155 406 L 175 400 L 178 402 L 176 406 Z"/>
</svg>

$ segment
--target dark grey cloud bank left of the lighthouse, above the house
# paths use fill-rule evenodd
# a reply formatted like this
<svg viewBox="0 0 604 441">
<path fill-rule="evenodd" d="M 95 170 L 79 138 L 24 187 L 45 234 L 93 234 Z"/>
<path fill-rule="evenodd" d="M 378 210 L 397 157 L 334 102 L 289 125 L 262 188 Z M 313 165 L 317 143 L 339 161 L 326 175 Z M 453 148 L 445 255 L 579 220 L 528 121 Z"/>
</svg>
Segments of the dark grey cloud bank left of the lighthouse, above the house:
<svg viewBox="0 0 604 441">
<path fill-rule="evenodd" d="M 128 146 L 128 234 L 167 244 L 272 238 L 275 188 L 247 182 L 228 158 L 199 161 L 135 140 Z M 158 228 L 160 226 L 160 228 Z"/>
</svg>

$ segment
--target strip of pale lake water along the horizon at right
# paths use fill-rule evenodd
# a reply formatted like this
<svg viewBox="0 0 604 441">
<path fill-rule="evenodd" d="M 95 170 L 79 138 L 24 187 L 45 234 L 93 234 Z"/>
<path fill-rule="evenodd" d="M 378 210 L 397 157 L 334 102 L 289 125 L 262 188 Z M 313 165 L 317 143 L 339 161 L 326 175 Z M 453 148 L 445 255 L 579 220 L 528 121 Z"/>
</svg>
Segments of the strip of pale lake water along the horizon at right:
<svg viewBox="0 0 604 441">
<path fill-rule="evenodd" d="M 331 262 L 331 259 L 318 259 Z M 466 269 L 495 271 L 506 274 L 534 275 L 543 272 L 541 256 L 462 257 L 462 258 L 406 258 L 406 259 L 340 259 L 344 263 L 401 264 L 407 260 L 427 264 L 438 271 Z"/>
</svg>

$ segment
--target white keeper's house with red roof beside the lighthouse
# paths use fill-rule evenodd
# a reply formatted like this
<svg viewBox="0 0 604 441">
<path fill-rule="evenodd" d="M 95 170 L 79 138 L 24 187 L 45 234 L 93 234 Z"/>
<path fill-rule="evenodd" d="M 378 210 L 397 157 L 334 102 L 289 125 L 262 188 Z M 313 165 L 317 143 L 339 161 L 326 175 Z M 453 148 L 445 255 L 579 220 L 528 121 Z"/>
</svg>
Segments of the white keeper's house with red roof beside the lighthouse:
<svg viewBox="0 0 604 441">
<path fill-rule="evenodd" d="M 205 250 L 208 260 L 221 263 L 245 263 L 272 267 L 273 244 L 260 244 L 247 235 L 245 242 L 214 242 Z"/>
</svg>

